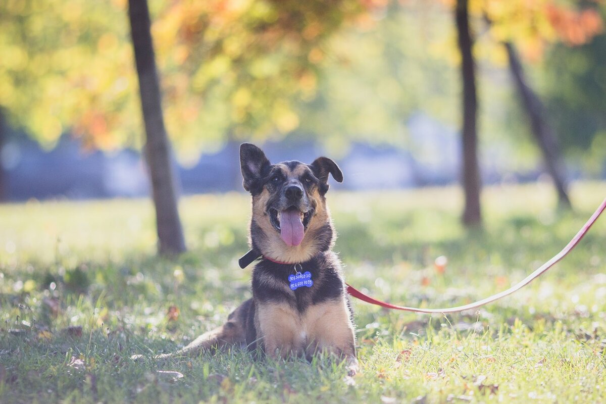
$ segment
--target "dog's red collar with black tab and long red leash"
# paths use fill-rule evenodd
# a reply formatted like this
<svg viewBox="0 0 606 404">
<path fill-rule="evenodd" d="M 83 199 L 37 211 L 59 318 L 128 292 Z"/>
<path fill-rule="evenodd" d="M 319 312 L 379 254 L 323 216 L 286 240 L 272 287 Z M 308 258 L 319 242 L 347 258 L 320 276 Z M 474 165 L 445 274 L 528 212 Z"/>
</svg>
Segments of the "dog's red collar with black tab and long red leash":
<svg viewBox="0 0 606 404">
<path fill-rule="evenodd" d="M 473 303 L 469 303 L 467 305 L 450 307 L 450 308 L 422 309 L 422 308 L 416 308 L 416 307 L 393 305 L 391 303 L 386 303 L 386 302 L 382 302 L 381 300 L 373 299 L 373 297 L 370 297 L 367 294 L 362 293 L 361 291 L 357 290 L 353 286 L 349 285 L 348 283 L 345 283 L 345 285 L 347 285 L 347 293 L 349 293 L 353 297 L 357 297 L 358 299 L 363 300 L 364 302 L 367 302 L 367 303 L 371 303 L 373 305 L 378 305 L 381 307 L 394 309 L 394 310 L 415 311 L 416 313 L 427 313 L 427 314 L 438 313 L 438 314 L 440 314 L 440 313 L 458 313 L 459 311 L 473 310 L 475 308 L 478 308 L 479 306 L 483 306 L 485 304 L 494 302 L 494 300 L 501 299 L 501 297 L 508 296 L 508 295 L 514 293 L 515 291 L 520 290 L 524 286 L 528 285 L 528 283 L 532 282 L 534 279 L 541 276 L 541 274 L 546 272 L 548 269 L 553 267 L 553 265 L 556 262 L 558 262 L 559 260 L 564 258 L 566 256 L 566 254 L 570 253 L 570 250 L 572 250 L 574 247 L 576 247 L 576 245 L 579 243 L 579 241 L 581 241 L 581 239 L 585 236 L 585 234 L 587 234 L 587 231 L 591 228 L 591 225 L 593 225 L 596 222 L 596 220 L 598 220 L 598 217 L 602 214 L 602 212 L 604 212 L 604 210 L 606 210 L 606 199 L 604 199 L 604 201 L 602 201 L 602 204 L 593 213 L 593 215 L 591 215 L 591 217 L 589 218 L 589 220 L 587 220 L 587 223 L 585 223 L 585 225 L 581 228 L 581 230 L 579 230 L 579 233 L 576 233 L 576 236 L 574 236 L 573 239 L 570 240 L 570 242 L 566 245 L 566 247 L 564 247 L 562 249 L 562 251 L 560 251 L 558 254 L 556 254 L 556 256 L 554 256 L 553 258 L 551 258 L 550 260 L 545 262 L 543 265 L 541 265 L 540 268 L 538 268 L 538 270 L 536 270 L 533 273 L 531 273 L 530 275 L 528 275 L 524 280 L 522 280 L 519 283 L 516 283 L 516 285 L 511 286 L 511 288 L 509 288 L 508 290 L 502 291 L 501 293 L 493 294 L 493 296 L 489 296 L 486 299 L 478 300 L 478 302 L 473 302 Z M 245 268 L 249 263 L 251 263 L 253 260 L 257 259 L 259 256 L 260 256 L 260 254 L 257 253 L 255 250 L 248 251 L 248 253 L 245 254 L 245 256 L 240 259 L 240 262 L 239 262 L 240 267 Z M 275 263 L 281 263 L 284 265 L 292 265 L 291 263 L 276 261 L 276 260 L 273 260 L 268 257 L 263 257 L 263 258 L 270 260 L 271 262 L 275 262 Z"/>
</svg>

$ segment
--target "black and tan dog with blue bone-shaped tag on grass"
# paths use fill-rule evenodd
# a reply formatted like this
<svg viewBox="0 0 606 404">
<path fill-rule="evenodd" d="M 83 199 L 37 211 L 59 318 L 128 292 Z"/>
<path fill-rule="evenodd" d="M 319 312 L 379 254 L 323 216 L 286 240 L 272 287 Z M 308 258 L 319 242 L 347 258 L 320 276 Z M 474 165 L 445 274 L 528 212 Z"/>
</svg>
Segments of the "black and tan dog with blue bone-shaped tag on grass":
<svg viewBox="0 0 606 404">
<path fill-rule="evenodd" d="M 353 313 L 341 262 L 331 251 L 335 231 L 325 198 L 328 175 L 342 182 L 341 170 L 327 157 L 271 164 L 248 143 L 240 147 L 240 164 L 253 199 L 248 263 L 261 257 L 253 270 L 253 297 L 221 327 L 157 358 L 245 345 L 273 358 L 334 354 L 355 374 Z"/>
</svg>

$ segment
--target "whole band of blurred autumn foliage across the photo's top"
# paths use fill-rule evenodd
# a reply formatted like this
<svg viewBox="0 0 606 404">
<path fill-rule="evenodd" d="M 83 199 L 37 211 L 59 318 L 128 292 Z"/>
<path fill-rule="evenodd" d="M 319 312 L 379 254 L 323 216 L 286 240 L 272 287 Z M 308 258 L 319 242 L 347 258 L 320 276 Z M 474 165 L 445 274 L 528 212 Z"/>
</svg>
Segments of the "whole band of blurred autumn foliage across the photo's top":
<svg viewBox="0 0 606 404">
<path fill-rule="evenodd" d="M 351 141 L 411 147 L 422 111 L 458 127 L 452 1 L 150 0 L 168 133 L 182 162 L 226 139 L 310 137 L 344 153 Z M 587 6 L 587 7 L 585 7 Z M 0 2 L 0 108 L 45 147 L 62 133 L 87 147 L 139 146 L 142 125 L 126 0 Z M 470 2 L 478 42 L 484 144 L 534 164 L 499 41 L 547 76 L 542 95 L 571 153 L 604 150 L 604 36 L 574 2 Z M 490 27 L 484 17 L 492 21 Z M 603 17 L 603 16 L 602 16 Z M 603 19 L 603 18 L 602 18 Z M 568 147 L 570 145 L 570 147 Z M 414 150 L 413 150 L 414 152 Z M 515 168 L 514 167 L 514 168 Z"/>
</svg>

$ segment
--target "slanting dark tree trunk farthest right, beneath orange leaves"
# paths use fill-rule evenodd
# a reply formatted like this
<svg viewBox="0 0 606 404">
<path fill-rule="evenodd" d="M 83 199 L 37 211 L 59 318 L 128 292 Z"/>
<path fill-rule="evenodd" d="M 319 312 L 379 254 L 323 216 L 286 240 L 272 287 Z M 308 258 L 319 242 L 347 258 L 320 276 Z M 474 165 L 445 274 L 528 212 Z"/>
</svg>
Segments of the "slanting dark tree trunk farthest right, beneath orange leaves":
<svg viewBox="0 0 606 404">
<path fill-rule="evenodd" d="M 541 100 L 526 81 L 524 70 L 522 69 L 522 64 L 520 63 L 516 49 L 511 42 L 505 42 L 504 45 L 507 49 L 509 68 L 511 70 L 511 75 L 513 76 L 513 81 L 518 88 L 518 92 L 524 103 L 524 108 L 530 118 L 534 139 L 538 143 L 539 148 L 541 148 L 545 159 L 545 166 L 547 167 L 547 171 L 550 174 L 551 179 L 553 179 L 556 191 L 558 192 L 558 204 L 561 207 L 570 208 L 565 166 L 564 162 L 562 162 L 556 136 L 554 136 L 551 127 L 547 124 L 547 121 L 545 121 L 545 112 Z"/>
</svg>

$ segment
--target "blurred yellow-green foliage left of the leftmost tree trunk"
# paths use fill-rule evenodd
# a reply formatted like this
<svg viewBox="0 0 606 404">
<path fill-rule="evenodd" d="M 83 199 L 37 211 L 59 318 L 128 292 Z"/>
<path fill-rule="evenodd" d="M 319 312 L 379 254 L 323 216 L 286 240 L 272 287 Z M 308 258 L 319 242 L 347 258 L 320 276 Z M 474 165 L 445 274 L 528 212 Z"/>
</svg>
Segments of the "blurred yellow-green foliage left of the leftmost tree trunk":
<svg viewBox="0 0 606 404">
<path fill-rule="evenodd" d="M 0 3 L 0 107 L 45 147 L 65 131 L 105 148 L 134 141 L 136 78 L 119 3 Z"/>
</svg>

